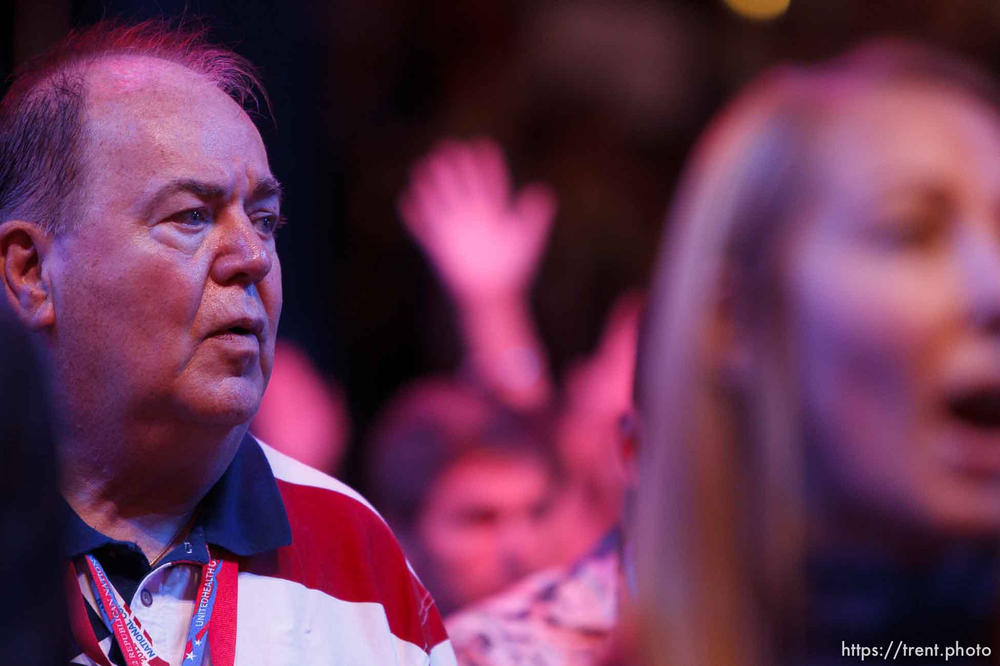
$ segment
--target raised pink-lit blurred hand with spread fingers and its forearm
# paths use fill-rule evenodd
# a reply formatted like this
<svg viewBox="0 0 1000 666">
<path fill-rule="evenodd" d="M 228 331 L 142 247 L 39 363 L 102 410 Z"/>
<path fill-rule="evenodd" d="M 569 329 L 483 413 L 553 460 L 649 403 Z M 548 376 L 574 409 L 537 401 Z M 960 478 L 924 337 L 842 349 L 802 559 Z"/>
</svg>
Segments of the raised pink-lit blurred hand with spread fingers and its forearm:
<svg viewBox="0 0 1000 666">
<path fill-rule="evenodd" d="M 468 362 L 514 406 L 552 394 L 528 292 L 555 217 L 543 184 L 514 191 L 499 146 L 442 141 L 412 169 L 399 213 L 458 309 Z"/>
</svg>

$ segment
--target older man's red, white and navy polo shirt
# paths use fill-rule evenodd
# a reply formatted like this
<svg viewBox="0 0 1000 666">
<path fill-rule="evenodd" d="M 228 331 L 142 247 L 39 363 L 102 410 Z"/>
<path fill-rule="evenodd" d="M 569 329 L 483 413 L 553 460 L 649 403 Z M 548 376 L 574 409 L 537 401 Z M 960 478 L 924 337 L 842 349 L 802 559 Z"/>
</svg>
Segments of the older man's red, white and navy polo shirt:
<svg viewBox="0 0 1000 666">
<path fill-rule="evenodd" d="M 105 536 L 64 505 L 68 593 L 75 572 L 90 640 L 114 664 L 125 662 L 95 611 L 84 555 L 97 558 L 157 651 L 178 666 L 207 546 L 238 564 L 236 666 L 455 664 L 434 601 L 367 500 L 249 434 L 186 540 L 155 569 L 135 543 Z M 94 666 L 86 637 L 73 633 L 69 663 Z"/>
</svg>

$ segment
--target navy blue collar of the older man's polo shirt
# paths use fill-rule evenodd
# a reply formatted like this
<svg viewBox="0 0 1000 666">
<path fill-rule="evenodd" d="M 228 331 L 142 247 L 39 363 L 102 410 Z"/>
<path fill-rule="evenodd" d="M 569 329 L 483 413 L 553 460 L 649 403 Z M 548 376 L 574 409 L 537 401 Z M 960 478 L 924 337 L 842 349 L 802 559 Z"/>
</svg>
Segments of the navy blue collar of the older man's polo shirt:
<svg viewBox="0 0 1000 666">
<path fill-rule="evenodd" d="M 133 543 L 116 541 L 97 531 L 65 500 L 62 503 L 67 514 L 63 550 L 68 559 L 105 545 L 137 549 Z M 292 542 L 288 514 L 271 465 L 249 433 L 222 477 L 199 503 L 192 532 L 239 556 L 257 555 Z"/>
</svg>

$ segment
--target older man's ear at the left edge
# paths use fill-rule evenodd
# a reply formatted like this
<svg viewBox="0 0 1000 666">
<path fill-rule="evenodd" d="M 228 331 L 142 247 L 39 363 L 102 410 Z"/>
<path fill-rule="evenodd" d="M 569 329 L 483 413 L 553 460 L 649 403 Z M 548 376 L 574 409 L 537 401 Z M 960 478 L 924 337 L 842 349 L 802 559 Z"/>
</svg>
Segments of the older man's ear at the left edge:
<svg viewBox="0 0 1000 666">
<path fill-rule="evenodd" d="M 51 246 L 51 237 L 36 223 L 0 223 L 0 281 L 4 295 L 32 331 L 51 329 L 56 322 L 51 285 L 42 271 Z"/>
</svg>

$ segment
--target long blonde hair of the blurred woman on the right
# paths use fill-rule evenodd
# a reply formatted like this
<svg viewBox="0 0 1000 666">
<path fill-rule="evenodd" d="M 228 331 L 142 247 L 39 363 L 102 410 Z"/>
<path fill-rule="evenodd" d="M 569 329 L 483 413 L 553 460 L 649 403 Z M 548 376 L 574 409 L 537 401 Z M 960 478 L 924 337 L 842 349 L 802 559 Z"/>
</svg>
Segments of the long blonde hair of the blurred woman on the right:
<svg viewBox="0 0 1000 666">
<path fill-rule="evenodd" d="M 669 212 L 637 371 L 636 520 L 650 664 L 774 664 L 802 645 L 805 462 L 782 246 L 819 187 L 831 104 L 926 83 L 996 108 L 974 68 L 899 41 L 753 82 L 699 142 Z M 739 331 L 739 333 L 734 333 Z M 725 349 L 752 339 L 753 361 Z"/>
</svg>

